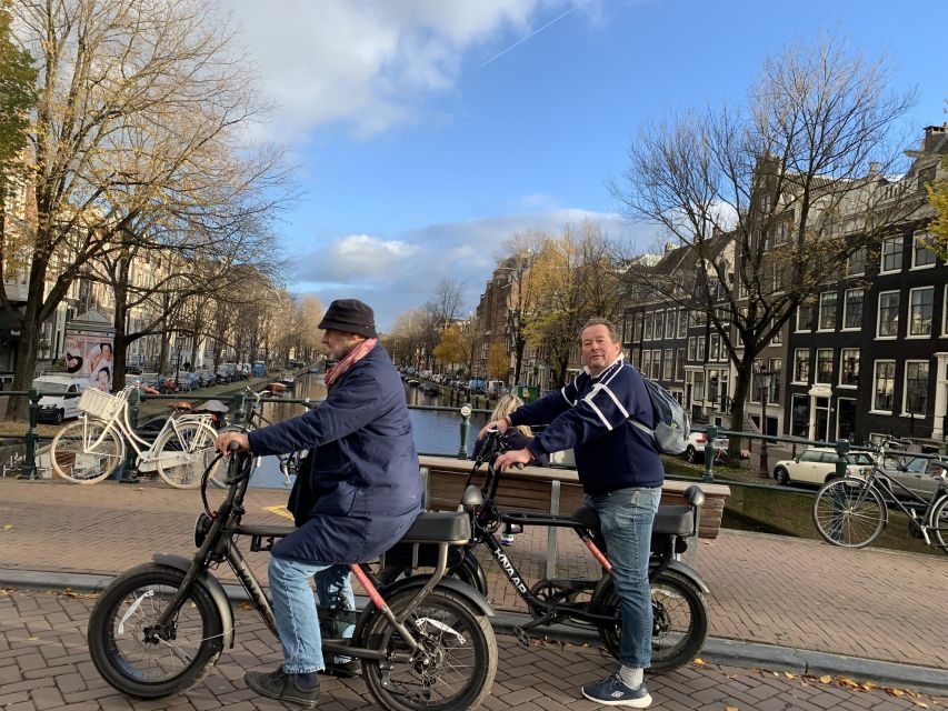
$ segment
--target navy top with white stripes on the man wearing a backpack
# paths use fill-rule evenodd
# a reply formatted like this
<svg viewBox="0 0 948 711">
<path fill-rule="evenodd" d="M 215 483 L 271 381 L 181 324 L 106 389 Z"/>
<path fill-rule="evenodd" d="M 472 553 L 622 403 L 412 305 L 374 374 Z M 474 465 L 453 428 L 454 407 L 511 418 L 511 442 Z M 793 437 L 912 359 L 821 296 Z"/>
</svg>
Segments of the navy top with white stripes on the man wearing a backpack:
<svg viewBox="0 0 948 711">
<path fill-rule="evenodd" d="M 579 481 L 592 495 L 665 480 L 655 439 L 629 418 L 655 425 L 642 377 L 621 354 L 598 377 L 585 369 L 560 392 L 510 414 L 513 424 L 547 425 L 529 444 L 535 457 L 573 448 Z"/>
</svg>

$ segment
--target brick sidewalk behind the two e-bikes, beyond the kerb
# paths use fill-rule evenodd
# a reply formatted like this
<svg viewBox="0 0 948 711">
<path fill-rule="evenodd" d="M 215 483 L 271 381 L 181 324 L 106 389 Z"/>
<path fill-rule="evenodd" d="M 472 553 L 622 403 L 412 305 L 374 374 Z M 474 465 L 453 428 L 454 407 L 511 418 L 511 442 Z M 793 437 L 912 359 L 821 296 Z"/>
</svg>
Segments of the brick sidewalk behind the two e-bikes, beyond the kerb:
<svg viewBox="0 0 948 711">
<path fill-rule="evenodd" d="M 286 495 L 251 490 L 248 520 L 279 520 L 262 509 L 283 503 Z M 188 555 L 199 510 L 197 492 L 156 484 L 0 479 L 0 568 L 113 573 L 157 551 Z M 596 574 L 566 533 L 559 540 L 562 572 Z M 528 529 L 508 552 L 528 578 L 539 577 L 546 533 Z M 266 578 L 266 554 L 248 558 Z M 700 541 L 697 567 L 711 589 L 715 637 L 948 668 L 948 557 L 724 531 Z M 519 609 L 508 585 L 493 584 L 491 593 L 498 607 Z"/>
</svg>

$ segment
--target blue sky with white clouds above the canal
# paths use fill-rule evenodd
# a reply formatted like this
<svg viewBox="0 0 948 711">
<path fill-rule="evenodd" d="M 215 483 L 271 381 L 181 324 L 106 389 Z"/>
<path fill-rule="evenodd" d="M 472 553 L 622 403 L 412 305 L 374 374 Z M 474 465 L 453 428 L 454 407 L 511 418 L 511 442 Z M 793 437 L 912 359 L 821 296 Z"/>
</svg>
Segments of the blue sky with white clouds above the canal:
<svg viewBox="0 0 948 711">
<path fill-rule="evenodd" d="M 646 250 L 608 181 L 666 111 L 740 102 L 761 60 L 821 33 L 884 53 L 917 88 L 920 138 L 948 120 L 948 3 L 230 0 L 277 104 L 301 201 L 279 231 L 291 288 L 356 296 L 381 328 L 442 278 L 473 306 L 511 234 L 583 217 Z"/>
</svg>

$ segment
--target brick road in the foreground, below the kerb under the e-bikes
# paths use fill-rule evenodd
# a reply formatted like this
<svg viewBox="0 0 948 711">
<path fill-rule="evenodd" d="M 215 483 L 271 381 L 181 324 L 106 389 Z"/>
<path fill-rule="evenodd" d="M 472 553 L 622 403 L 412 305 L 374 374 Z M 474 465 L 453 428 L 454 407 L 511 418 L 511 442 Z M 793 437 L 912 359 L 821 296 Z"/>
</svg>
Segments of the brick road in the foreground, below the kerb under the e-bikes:
<svg viewBox="0 0 948 711">
<path fill-rule="evenodd" d="M 0 591 L 0 708 L 4 711 L 229 711 L 297 708 L 261 699 L 242 681 L 248 669 L 275 667 L 280 659 L 272 635 L 256 614 L 238 611 L 237 644 L 188 693 L 159 701 L 127 699 L 96 672 L 84 631 L 93 604 L 90 595 L 61 592 Z M 581 684 L 599 679 L 610 660 L 588 648 L 535 644 L 523 648 L 498 638 L 499 664 L 489 711 L 591 711 Z M 563 670 L 569 670 L 565 673 Z M 948 700 L 901 690 L 855 690 L 841 680 L 820 680 L 760 670 L 692 664 L 648 679 L 657 710 L 710 711 L 897 711 L 946 708 Z M 900 695 L 894 695 L 894 694 Z M 378 708 L 360 679 L 326 679 L 319 704 L 326 711 Z"/>
</svg>

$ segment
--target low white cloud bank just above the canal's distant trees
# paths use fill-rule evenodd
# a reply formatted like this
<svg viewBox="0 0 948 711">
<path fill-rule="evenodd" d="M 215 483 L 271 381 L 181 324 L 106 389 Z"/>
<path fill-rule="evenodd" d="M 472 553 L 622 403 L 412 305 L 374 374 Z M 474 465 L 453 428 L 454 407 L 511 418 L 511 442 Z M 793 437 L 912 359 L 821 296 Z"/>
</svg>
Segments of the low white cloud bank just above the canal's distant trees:
<svg viewBox="0 0 948 711">
<path fill-rule="evenodd" d="M 295 288 L 316 293 L 326 303 L 347 297 L 362 299 L 376 310 L 379 326 L 387 329 L 399 313 L 431 298 L 441 279 L 463 284 L 466 303 L 472 307 L 505 240 L 526 230 L 557 233 L 563 224 L 586 218 L 639 250 L 651 248 L 656 241 L 651 228 L 629 226 L 618 216 L 580 209 L 430 224 L 396 238 L 349 234 L 295 256 Z"/>
</svg>

